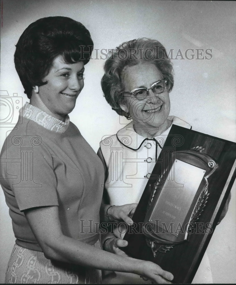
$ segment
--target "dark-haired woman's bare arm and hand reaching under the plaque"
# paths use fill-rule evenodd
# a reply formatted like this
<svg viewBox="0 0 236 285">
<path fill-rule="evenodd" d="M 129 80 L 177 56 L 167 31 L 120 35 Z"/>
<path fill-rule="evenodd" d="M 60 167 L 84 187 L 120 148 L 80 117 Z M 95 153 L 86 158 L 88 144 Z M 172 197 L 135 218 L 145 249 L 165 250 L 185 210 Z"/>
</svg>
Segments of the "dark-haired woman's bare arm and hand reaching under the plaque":
<svg viewBox="0 0 236 285">
<path fill-rule="evenodd" d="M 98 269 L 132 272 L 163 283 L 173 275 L 152 262 L 121 257 L 63 235 L 58 207 L 40 207 L 24 211 L 46 258 Z"/>
</svg>

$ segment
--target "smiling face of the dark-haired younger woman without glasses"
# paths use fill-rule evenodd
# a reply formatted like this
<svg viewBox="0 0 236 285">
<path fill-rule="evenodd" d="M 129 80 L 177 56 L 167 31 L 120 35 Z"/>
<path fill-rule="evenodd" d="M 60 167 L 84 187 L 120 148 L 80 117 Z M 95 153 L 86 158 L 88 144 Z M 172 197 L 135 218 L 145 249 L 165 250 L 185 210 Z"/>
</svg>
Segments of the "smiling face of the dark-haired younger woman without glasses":
<svg viewBox="0 0 236 285">
<path fill-rule="evenodd" d="M 48 75 L 43 79 L 47 84 L 40 86 L 36 95 L 54 117 L 64 120 L 74 109 L 76 99 L 84 87 L 83 72 L 83 62 L 68 64 L 62 56 L 54 59 Z"/>
</svg>

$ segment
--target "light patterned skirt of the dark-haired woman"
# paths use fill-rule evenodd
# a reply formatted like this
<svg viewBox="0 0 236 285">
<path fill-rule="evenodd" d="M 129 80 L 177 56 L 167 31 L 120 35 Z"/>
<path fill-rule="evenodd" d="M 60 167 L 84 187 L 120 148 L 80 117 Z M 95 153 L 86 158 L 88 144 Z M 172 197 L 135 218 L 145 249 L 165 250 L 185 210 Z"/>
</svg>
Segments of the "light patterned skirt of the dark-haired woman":
<svg viewBox="0 0 236 285">
<path fill-rule="evenodd" d="M 93 246 L 100 249 L 100 241 Z M 101 270 L 54 262 L 41 251 L 14 245 L 5 284 L 100 284 L 101 277 Z"/>
</svg>

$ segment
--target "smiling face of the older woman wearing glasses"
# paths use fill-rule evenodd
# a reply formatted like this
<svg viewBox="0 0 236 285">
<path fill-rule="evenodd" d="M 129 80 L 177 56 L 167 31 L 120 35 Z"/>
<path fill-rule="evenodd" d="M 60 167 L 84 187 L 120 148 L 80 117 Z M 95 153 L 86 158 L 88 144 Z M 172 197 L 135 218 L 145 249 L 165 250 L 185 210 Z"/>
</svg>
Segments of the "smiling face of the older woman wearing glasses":
<svg viewBox="0 0 236 285">
<path fill-rule="evenodd" d="M 162 80 L 163 76 L 154 64 L 149 62 L 140 63 L 135 66 L 127 66 L 124 69 L 125 91 L 136 88 L 150 88 L 154 82 Z M 125 94 L 127 104 L 120 105 L 125 111 L 129 111 L 136 127 L 146 129 L 147 133 L 153 130 L 164 131 L 169 126 L 167 117 L 170 112 L 170 99 L 167 89 L 160 94 L 155 94 L 150 89 L 149 95 L 143 100 Z M 139 133 L 139 132 L 138 132 Z"/>
</svg>

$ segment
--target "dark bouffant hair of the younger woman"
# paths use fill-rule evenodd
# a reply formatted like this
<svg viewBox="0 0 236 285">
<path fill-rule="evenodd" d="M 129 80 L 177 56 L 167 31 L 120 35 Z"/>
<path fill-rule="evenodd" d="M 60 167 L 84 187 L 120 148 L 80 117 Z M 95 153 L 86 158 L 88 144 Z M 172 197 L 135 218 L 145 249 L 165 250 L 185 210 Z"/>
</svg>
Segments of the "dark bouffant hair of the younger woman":
<svg viewBox="0 0 236 285">
<path fill-rule="evenodd" d="M 46 17 L 30 24 L 16 44 L 15 68 L 30 99 L 32 86 L 42 86 L 53 60 L 61 55 L 66 63 L 87 64 L 93 40 L 85 26 L 68 17 Z"/>
</svg>

